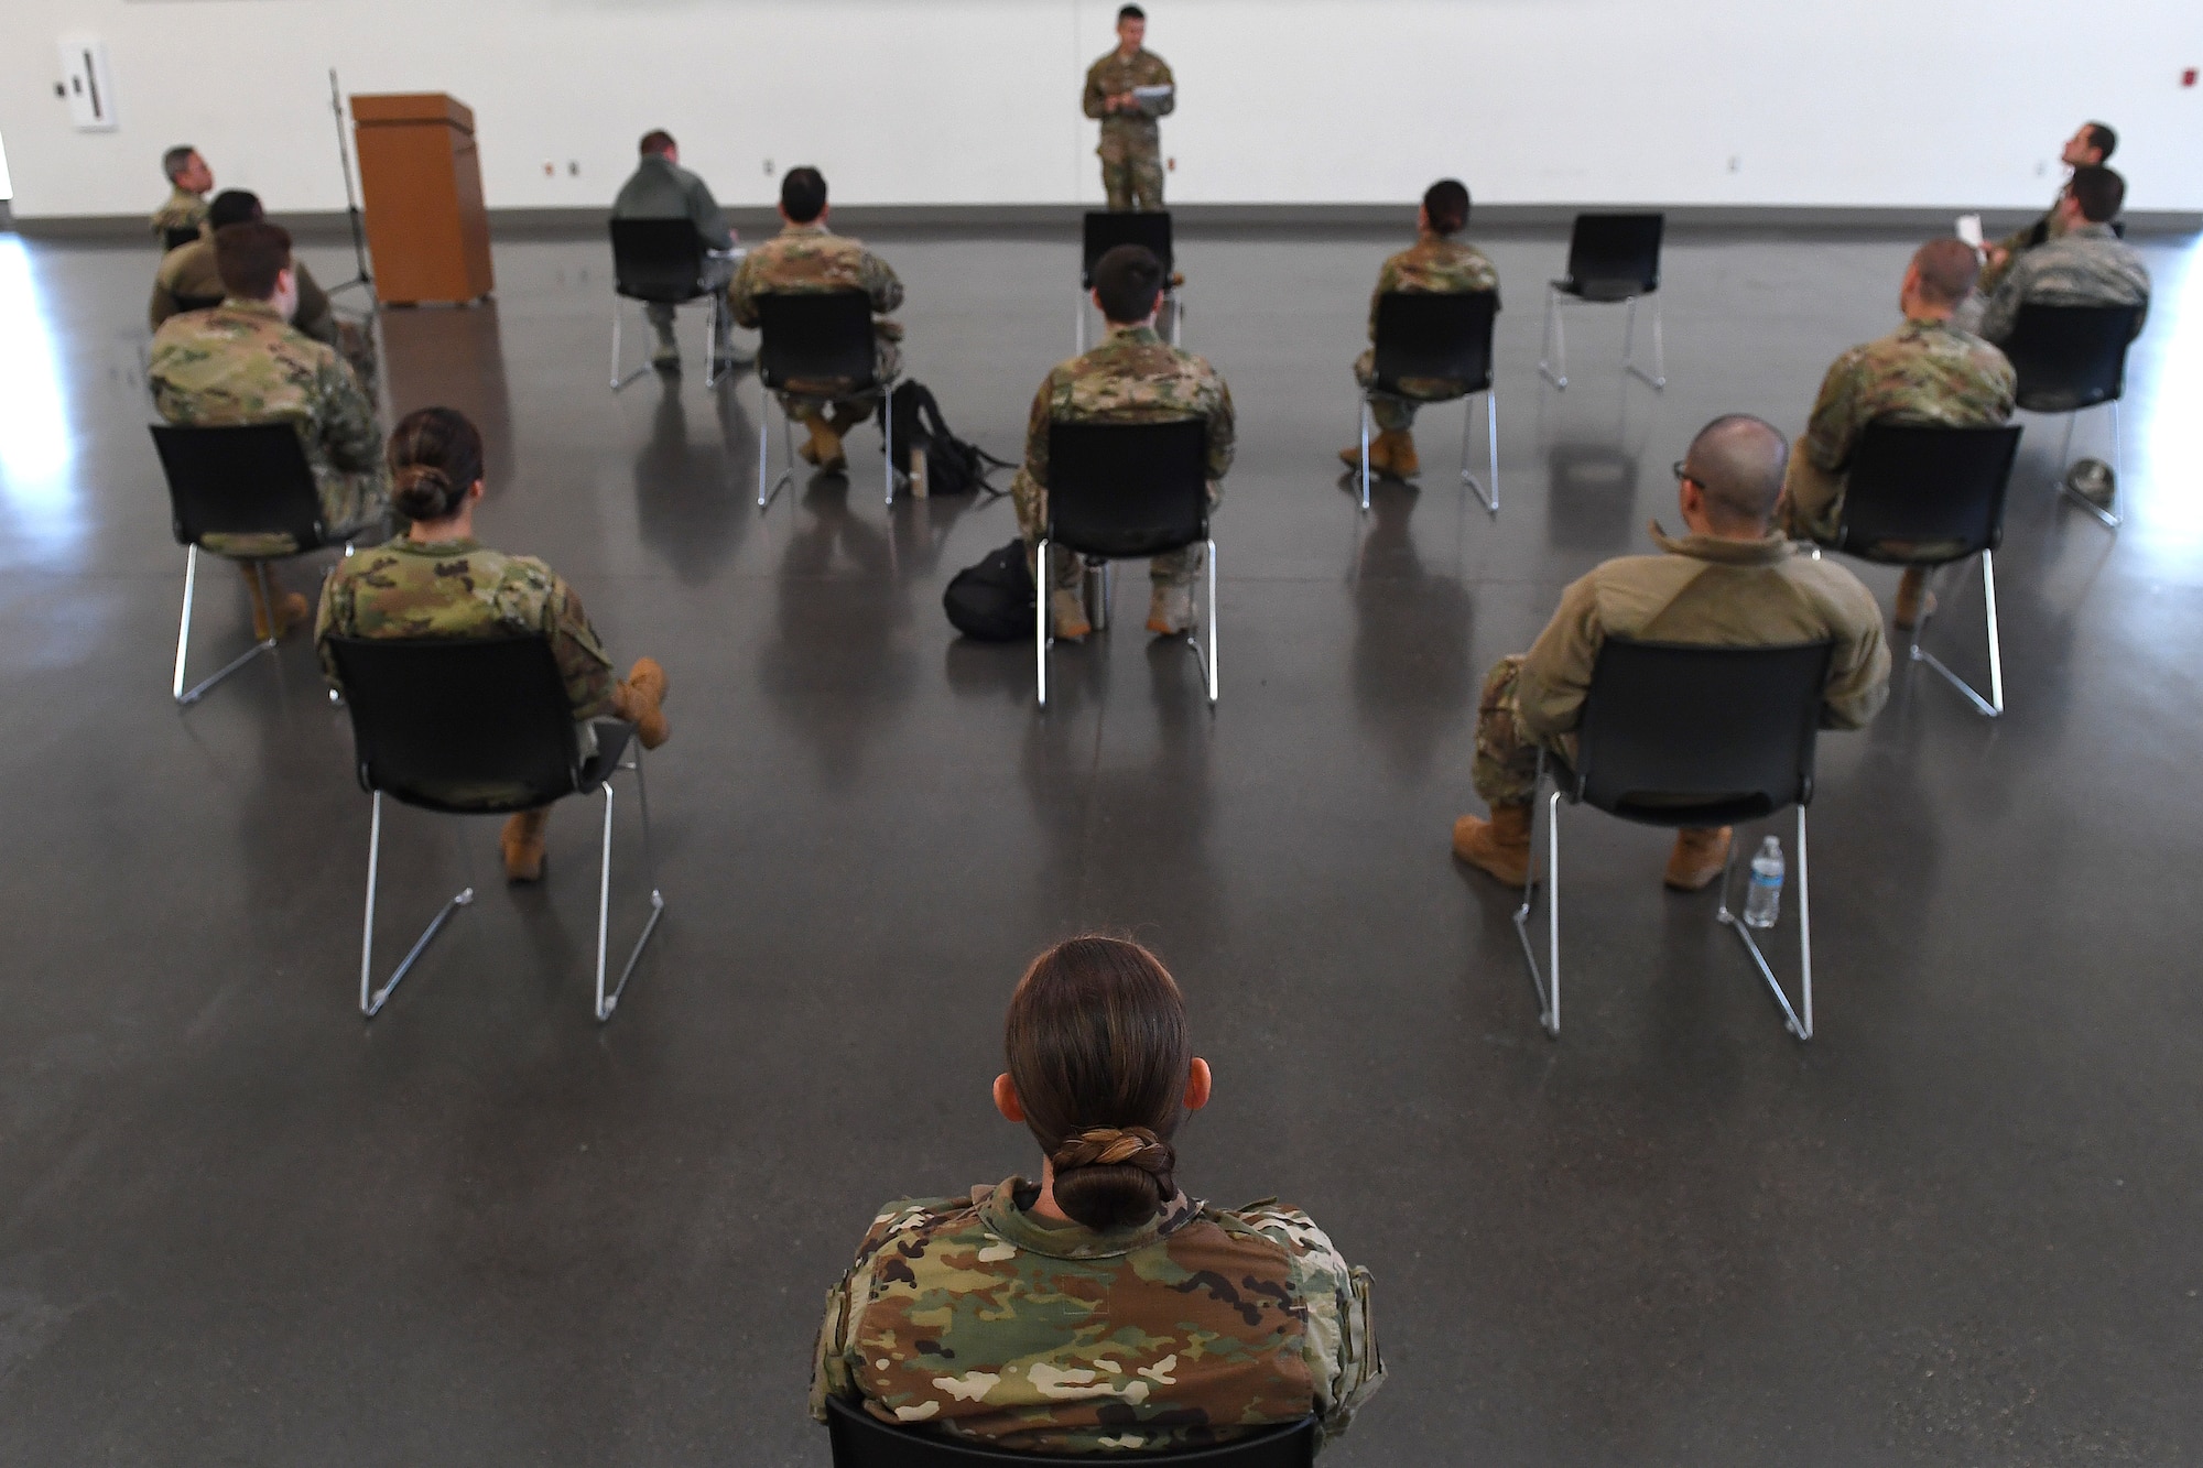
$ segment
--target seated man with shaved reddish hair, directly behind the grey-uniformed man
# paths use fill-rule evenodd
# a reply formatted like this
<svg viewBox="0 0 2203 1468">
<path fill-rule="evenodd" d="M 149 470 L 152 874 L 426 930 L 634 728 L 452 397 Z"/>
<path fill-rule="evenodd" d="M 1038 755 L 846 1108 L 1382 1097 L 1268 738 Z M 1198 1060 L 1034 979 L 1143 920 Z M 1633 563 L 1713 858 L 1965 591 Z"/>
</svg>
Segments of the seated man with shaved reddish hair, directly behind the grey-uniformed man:
<svg viewBox="0 0 2203 1468">
<path fill-rule="evenodd" d="M 1844 520 L 1844 474 L 1868 423 L 1945 423 L 1992 428 L 2011 417 L 2011 364 L 1980 337 L 1952 326 L 1952 311 L 1974 289 L 1974 247 L 1952 236 L 1912 253 L 1897 287 L 1906 324 L 1835 359 L 1813 399 L 1813 419 L 1791 450 L 1776 525 L 1784 536 L 1833 544 Z M 1897 586 L 1897 626 L 1919 622 L 1925 566 L 1906 566 Z M 1934 611 L 1928 602 L 1925 611 Z"/>
</svg>

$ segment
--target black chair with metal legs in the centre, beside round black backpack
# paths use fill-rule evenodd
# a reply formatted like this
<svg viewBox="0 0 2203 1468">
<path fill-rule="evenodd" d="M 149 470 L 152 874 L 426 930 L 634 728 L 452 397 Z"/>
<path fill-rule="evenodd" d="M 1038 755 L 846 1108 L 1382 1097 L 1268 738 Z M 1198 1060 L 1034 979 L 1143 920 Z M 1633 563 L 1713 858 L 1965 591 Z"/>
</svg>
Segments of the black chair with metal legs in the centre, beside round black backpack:
<svg viewBox="0 0 2203 1468">
<path fill-rule="evenodd" d="M 1049 425 L 1049 525 L 1033 562 L 1040 569 L 1040 595 L 1033 597 L 1040 708 L 1049 705 L 1053 641 L 1051 544 L 1104 562 L 1207 547 L 1207 615 L 1201 622 L 1209 646 L 1203 652 L 1194 637 L 1185 646 L 1201 661 L 1209 708 L 1216 708 L 1216 540 L 1209 538 L 1209 425 L 1203 419 Z"/>
</svg>

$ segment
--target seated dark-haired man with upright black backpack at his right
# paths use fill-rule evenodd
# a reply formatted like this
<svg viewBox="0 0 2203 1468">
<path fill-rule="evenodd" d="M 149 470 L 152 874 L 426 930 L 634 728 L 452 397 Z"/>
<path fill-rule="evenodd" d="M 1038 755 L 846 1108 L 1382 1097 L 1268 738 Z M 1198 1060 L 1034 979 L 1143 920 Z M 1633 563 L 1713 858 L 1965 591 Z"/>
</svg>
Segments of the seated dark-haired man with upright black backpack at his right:
<svg viewBox="0 0 2203 1468">
<path fill-rule="evenodd" d="M 877 320 L 877 375 L 888 381 L 901 370 L 903 355 L 897 342 L 903 328 L 886 315 L 903 304 L 903 282 L 894 278 L 888 262 L 870 249 L 826 229 L 826 179 L 815 168 L 791 168 L 780 179 L 782 229 L 742 258 L 734 273 L 727 298 L 734 302 L 734 320 L 756 328 L 760 295 L 815 295 L 820 291 L 864 291 L 872 300 Z M 842 434 L 864 423 L 879 408 L 879 392 L 857 392 L 855 384 L 826 379 L 789 384 L 780 392 L 786 414 L 811 430 L 811 443 L 797 452 L 804 463 L 815 463 L 826 472 L 848 467 L 842 452 Z"/>
</svg>

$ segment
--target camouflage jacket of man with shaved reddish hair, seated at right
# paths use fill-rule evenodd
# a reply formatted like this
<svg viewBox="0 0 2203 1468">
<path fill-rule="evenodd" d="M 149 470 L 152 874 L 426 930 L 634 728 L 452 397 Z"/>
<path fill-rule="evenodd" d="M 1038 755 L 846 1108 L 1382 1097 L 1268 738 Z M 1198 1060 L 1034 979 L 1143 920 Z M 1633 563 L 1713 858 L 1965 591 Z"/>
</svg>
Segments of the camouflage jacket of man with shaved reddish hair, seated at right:
<svg viewBox="0 0 2203 1468">
<path fill-rule="evenodd" d="M 1778 522 L 1831 542 L 1844 511 L 1844 472 L 1875 421 L 1989 428 L 2011 417 L 2016 379 L 2005 353 L 1950 322 L 1906 322 L 1828 366 L 1813 419 L 1791 447 Z"/>
</svg>

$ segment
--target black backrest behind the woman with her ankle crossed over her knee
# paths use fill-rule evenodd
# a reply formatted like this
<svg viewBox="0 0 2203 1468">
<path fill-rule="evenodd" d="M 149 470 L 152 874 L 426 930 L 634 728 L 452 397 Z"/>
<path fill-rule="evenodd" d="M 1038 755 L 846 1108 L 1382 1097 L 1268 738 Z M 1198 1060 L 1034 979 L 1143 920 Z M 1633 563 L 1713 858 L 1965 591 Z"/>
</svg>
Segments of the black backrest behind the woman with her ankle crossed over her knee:
<svg viewBox="0 0 2203 1468">
<path fill-rule="evenodd" d="M 408 805 L 518 787 L 511 809 L 582 785 L 573 703 L 542 637 L 330 637 L 359 785 Z"/>
</svg>

